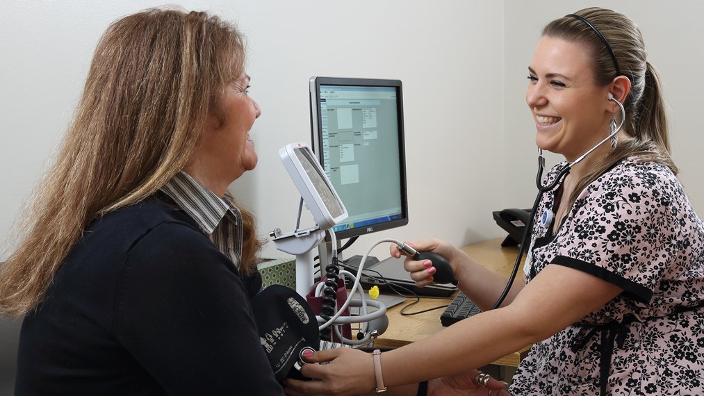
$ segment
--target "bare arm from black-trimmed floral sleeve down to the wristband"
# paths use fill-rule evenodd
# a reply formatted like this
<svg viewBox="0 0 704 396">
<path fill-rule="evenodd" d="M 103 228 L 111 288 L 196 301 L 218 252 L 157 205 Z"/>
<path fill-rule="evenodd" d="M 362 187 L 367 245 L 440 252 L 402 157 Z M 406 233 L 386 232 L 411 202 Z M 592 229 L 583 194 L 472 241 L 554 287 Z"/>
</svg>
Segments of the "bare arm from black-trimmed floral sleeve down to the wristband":
<svg viewBox="0 0 704 396">
<path fill-rule="evenodd" d="M 413 383 L 484 366 L 553 336 L 622 291 L 591 274 L 549 265 L 507 307 L 482 312 L 386 352 L 384 381 Z"/>
</svg>

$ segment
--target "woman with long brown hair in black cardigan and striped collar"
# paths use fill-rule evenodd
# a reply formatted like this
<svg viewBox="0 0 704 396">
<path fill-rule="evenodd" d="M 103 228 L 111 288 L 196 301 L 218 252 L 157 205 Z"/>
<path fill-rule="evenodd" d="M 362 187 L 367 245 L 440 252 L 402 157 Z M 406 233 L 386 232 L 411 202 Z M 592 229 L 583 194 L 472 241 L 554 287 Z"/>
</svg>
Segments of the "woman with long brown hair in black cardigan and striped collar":
<svg viewBox="0 0 704 396">
<path fill-rule="evenodd" d="M 149 10 L 99 42 L 56 164 L 0 274 L 26 315 L 16 392 L 280 395 L 253 325 L 256 165 L 237 29 Z"/>
</svg>

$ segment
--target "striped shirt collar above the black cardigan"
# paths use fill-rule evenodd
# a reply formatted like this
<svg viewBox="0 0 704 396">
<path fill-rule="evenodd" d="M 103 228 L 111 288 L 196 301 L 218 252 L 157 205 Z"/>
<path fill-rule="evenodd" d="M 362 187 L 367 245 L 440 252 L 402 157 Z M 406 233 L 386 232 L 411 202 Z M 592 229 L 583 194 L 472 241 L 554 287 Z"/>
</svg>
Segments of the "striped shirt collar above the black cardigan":
<svg viewBox="0 0 704 396">
<path fill-rule="evenodd" d="M 170 196 L 208 235 L 213 233 L 228 212 L 232 215 L 237 213 L 236 207 L 183 171 L 161 187 L 161 191 Z"/>
</svg>

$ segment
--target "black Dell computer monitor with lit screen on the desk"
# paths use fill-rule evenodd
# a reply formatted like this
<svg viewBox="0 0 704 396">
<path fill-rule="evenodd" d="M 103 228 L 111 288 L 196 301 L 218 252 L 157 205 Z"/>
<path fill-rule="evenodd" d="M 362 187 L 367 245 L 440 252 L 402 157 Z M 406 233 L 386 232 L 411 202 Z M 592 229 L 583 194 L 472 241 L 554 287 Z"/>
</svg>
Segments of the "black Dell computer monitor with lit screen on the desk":
<svg viewBox="0 0 704 396">
<path fill-rule="evenodd" d="M 408 224 L 397 79 L 312 77 L 313 151 L 347 208 L 338 239 Z"/>
</svg>

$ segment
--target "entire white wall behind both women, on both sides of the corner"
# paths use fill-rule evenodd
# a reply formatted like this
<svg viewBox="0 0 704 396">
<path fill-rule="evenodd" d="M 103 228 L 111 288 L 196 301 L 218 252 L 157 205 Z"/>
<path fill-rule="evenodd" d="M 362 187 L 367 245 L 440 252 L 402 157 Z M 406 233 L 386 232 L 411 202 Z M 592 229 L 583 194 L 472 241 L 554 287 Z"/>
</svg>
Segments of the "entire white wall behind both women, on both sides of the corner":
<svg viewBox="0 0 704 396">
<path fill-rule="evenodd" d="M 362 254 L 382 237 L 438 236 L 464 245 L 503 235 L 491 211 L 526 207 L 534 188 L 534 127 L 524 103 L 526 70 L 541 27 L 586 6 L 576 0 L 182 1 L 237 21 L 249 38 L 251 95 L 263 108 L 252 130 L 256 170 L 232 191 L 259 232 L 291 229 L 298 196 L 277 159 L 310 140 L 313 75 L 403 81 L 410 223 L 360 238 Z M 704 210 L 698 107 L 704 81 L 699 15 L 704 4 L 596 1 L 631 16 L 660 70 L 672 115 L 674 158 Z M 68 124 L 92 51 L 109 23 L 155 1 L 4 0 L 0 13 L 0 245 L 46 170 Z M 551 163 L 557 160 L 555 158 Z M 281 257 L 270 243 L 265 254 Z M 375 250 L 384 255 L 386 248 Z M 0 260 L 6 252 L 0 254 Z"/>
</svg>

